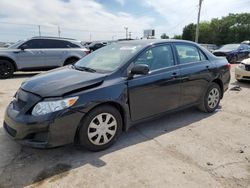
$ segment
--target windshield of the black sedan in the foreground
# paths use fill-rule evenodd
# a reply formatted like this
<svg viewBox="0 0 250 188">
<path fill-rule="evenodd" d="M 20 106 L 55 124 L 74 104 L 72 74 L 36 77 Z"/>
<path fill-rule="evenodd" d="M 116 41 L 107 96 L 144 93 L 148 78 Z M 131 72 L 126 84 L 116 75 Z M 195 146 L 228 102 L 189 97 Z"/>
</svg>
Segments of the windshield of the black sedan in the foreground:
<svg viewBox="0 0 250 188">
<path fill-rule="evenodd" d="M 142 49 L 141 45 L 111 44 L 85 56 L 75 66 L 89 68 L 101 73 L 113 72 L 140 49 Z"/>
</svg>

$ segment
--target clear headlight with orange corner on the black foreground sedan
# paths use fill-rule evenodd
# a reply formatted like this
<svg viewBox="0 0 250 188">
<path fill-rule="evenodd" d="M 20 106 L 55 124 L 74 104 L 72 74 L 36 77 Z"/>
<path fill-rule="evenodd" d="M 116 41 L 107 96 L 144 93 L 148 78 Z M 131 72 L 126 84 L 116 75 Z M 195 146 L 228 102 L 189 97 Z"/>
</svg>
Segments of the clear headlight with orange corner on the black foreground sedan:
<svg viewBox="0 0 250 188">
<path fill-rule="evenodd" d="M 56 112 L 65 108 L 73 106 L 78 97 L 71 97 L 56 101 L 43 101 L 36 104 L 32 110 L 32 115 L 41 116 L 51 112 Z"/>
</svg>

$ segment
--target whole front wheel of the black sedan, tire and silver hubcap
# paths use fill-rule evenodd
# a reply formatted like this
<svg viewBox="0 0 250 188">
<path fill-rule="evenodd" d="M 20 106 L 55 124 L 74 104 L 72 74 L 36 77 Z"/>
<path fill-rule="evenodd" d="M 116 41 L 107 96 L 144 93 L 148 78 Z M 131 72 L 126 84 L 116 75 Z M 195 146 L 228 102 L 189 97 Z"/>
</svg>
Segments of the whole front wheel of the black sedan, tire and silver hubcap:
<svg viewBox="0 0 250 188">
<path fill-rule="evenodd" d="M 101 151 L 110 147 L 121 132 L 122 117 L 120 112 L 109 105 L 98 106 L 81 121 L 78 144 L 90 151 Z"/>
</svg>

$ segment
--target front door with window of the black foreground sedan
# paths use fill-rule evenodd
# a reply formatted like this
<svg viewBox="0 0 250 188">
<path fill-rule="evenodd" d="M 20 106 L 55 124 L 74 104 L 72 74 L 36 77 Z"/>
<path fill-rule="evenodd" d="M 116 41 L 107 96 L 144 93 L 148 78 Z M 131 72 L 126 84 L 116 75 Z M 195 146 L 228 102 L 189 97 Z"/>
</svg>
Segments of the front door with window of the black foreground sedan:
<svg viewBox="0 0 250 188">
<path fill-rule="evenodd" d="M 137 121 L 179 107 L 180 79 L 170 44 L 143 52 L 134 64 L 147 64 L 148 75 L 128 81 L 131 119 Z"/>
</svg>

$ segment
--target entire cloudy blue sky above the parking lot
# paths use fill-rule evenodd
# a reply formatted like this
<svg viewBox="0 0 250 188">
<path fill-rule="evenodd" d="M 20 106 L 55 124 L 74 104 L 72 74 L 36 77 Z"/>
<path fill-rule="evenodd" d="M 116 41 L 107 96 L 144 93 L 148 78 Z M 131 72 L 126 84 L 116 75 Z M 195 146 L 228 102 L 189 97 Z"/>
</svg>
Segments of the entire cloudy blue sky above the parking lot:
<svg viewBox="0 0 250 188">
<path fill-rule="evenodd" d="M 39 35 L 82 41 L 132 38 L 155 29 L 170 37 L 197 22 L 199 0 L 0 0 L 0 41 Z M 250 0 L 203 0 L 201 21 L 229 13 L 250 13 Z"/>
</svg>

